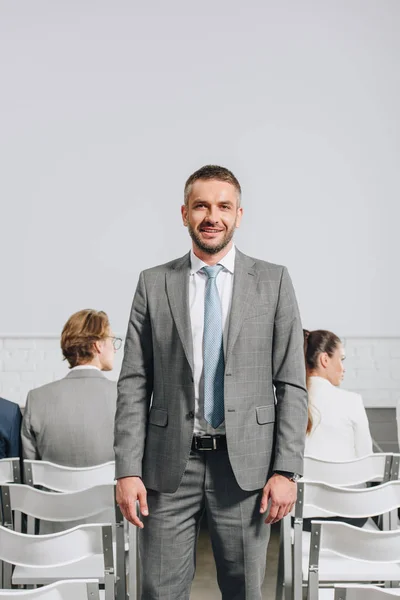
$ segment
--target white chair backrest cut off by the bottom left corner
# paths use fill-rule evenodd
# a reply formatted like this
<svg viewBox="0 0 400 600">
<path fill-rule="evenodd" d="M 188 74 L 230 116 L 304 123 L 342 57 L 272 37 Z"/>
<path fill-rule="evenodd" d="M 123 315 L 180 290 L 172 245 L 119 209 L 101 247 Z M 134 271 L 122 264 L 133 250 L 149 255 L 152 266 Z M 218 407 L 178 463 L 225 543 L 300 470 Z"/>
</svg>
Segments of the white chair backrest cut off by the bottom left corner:
<svg viewBox="0 0 400 600">
<path fill-rule="evenodd" d="M 0 600 L 99 600 L 96 579 L 57 581 L 35 590 L 0 590 Z"/>
</svg>

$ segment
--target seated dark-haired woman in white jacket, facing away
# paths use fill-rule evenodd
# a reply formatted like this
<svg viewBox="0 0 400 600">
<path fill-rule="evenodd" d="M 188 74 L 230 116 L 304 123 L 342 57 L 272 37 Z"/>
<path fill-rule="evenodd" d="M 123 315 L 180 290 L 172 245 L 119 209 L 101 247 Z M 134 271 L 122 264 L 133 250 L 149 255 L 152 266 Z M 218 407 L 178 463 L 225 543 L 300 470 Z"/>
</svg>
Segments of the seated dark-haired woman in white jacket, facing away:
<svg viewBox="0 0 400 600">
<path fill-rule="evenodd" d="M 330 331 L 304 330 L 309 397 L 305 455 L 329 461 L 354 460 L 372 453 L 368 418 L 360 394 L 339 388 L 344 348 Z"/>
</svg>

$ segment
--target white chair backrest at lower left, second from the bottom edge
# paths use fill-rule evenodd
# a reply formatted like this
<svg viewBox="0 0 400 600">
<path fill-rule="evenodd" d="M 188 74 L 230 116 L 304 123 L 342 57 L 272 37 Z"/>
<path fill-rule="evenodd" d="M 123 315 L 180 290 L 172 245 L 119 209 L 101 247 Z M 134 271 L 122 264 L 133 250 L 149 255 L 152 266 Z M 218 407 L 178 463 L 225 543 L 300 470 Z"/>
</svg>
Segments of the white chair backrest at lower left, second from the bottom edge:
<svg viewBox="0 0 400 600">
<path fill-rule="evenodd" d="M 27 535 L 0 526 L 0 560 L 23 567 L 58 567 L 103 555 L 114 568 L 111 525 L 78 525 L 50 535 Z"/>
</svg>

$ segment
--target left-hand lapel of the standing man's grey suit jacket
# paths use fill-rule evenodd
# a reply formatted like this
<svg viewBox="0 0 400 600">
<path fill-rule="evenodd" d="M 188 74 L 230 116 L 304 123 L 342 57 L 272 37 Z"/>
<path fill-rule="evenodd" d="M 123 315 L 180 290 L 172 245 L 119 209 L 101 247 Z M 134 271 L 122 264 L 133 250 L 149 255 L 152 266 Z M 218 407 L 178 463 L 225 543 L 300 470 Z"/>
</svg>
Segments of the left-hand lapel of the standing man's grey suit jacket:
<svg viewBox="0 0 400 600">
<path fill-rule="evenodd" d="M 167 294 L 182 346 L 193 372 L 193 340 L 189 314 L 190 253 L 175 262 L 166 275 Z"/>
</svg>

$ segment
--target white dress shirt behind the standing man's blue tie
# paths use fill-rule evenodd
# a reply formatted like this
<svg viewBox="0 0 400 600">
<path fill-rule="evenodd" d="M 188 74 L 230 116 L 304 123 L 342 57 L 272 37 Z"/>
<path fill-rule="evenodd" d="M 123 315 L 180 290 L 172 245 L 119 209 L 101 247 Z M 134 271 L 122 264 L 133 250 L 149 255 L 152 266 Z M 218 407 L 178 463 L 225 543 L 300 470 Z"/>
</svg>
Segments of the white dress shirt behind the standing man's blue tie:
<svg viewBox="0 0 400 600">
<path fill-rule="evenodd" d="M 235 252 L 235 246 L 232 246 L 224 258 L 218 262 L 219 265 L 224 267 L 220 273 L 218 273 L 216 281 L 222 308 L 224 347 L 226 347 L 227 328 L 229 323 L 228 316 L 231 310 Z M 196 435 L 204 433 L 225 434 L 225 423 L 221 423 L 218 429 L 214 429 L 204 419 L 203 331 L 204 297 L 208 277 L 205 273 L 200 273 L 200 270 L 208 265 L 200 260 L 194 254 L 193 250 L 190 253 L 190 264 L 189 311 L 192 328 L 194 362 L 194 433 Z"/>
</svg>

